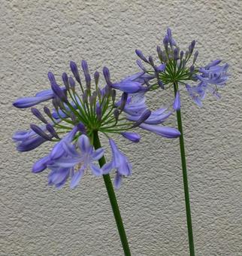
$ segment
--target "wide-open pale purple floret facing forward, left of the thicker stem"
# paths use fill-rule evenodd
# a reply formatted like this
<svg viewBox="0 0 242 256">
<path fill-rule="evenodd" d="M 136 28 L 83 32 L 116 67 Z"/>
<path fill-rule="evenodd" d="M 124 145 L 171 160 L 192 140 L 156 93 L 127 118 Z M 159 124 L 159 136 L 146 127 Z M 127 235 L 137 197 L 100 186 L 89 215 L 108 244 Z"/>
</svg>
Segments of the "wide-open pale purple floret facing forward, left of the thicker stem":
<svg viewBox="0 0 242 256">
<path fill-rule="evenodd" d="M 71 188 L 77 186 L 80 178 L 83 176 L 83 173 L 87 168 L 92 170 L 93 175 L 102 175 L 101 169 L 98 166 L 95 166 L 92 162 L 99 160 L 104 155 L 104 149 L 98 148 L 95 151 L 86 135 L 81 135 L 77 141 L 77 148 L 79 148 L 80 152 L 77 151 L 75 145 L 66 141 L 63 142 L 62 147 L 65 150 L 65 154 L 58 159 L 53 160 L 53 162 L 48 165 L 48 168 L 53 171 L 51 173 L 54 173 L 58 177 L 60 169 L 69 169 L 70 172 L 71 168 L 79 165 L 80 167 L 78 167 L 79 169 L 77 172 L 74 172 L 74 175 L 72 175 Z M 62 172 L 60 172 L 60 174 L 62 175 Z"/>
</svg>

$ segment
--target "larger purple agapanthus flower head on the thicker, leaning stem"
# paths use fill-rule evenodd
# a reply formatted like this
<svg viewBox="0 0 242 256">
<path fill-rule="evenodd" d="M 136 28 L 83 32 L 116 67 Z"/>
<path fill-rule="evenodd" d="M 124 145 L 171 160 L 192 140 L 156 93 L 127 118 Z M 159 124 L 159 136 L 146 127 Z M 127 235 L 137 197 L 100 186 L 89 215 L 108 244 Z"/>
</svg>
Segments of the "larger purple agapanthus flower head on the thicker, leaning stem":
<svg viewBox="0 0 242 256">
<path fill-rule="evenodd" d="M 30 130 L 18 131 L 13 136 L 18 151 L 30 151 L 47 141 L 56 142 L 50 153 L 32 167 L 35 173 L 50 169 L 48 184 L 60 188 L 69 180 L 74 188 L 86 169 L 95 176 L 106 175 L 115 169 L 114 184 L 119 187 L 122 177 L 131 175 L 132 166 L 111 138 L 114 133 L 131 142 L 141 139 L 133 131 L 138 127 L 168 138 L 180 136 L 176 129 L 162 126 L 171 111 L 147 108 L 144 93 L 150 89 L 147 84 L 153 75 L 140 72 L 115 83 L 104 67 L 106 83 L 100 87 L 99 73 L 95 72 L 92 79 L 86 61 L 81 62 L 85 84 L 77 64 L 71 61 L 70 67 L 73 77 L 62 74 L 64 87 L 60 87 L 53 73 L 49 72 L 50 90 L 14 102 L 17 108 L 27 108 L 51 99 L 53 109 L 44 106 L 44 113 L 41 113 L 37 108 L 31 108 L 42 125 L 31 124 Z M 102 168 L 95 162 L 103 157 L 104 148 L 93 148 L 94 133 L 103 133 L 104 138 L 108 138 L 113 155 Z"/>
</svg>

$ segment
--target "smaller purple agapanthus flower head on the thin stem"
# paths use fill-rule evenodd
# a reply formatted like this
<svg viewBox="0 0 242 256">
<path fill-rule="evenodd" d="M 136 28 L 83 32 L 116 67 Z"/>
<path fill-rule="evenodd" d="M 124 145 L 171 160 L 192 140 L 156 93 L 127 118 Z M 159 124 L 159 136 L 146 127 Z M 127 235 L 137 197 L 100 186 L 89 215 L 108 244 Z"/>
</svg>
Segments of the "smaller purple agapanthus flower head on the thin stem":
<svg viewBox="0 0 242 256">
<path fill-rule="evenodd" d="M 163 47 L 157 46 L 158 62 L 156 64 L 152 56 L 144 56 L 141 50 L 136 50 L 138 66 L 144 72 L 143 75 L 153 76 L 147 82 L 149 90 L 162 88 L 163 90 L 175 86 L 176 90 L 185 88 L 192 100 L 202 106 L 202 100 L 207 92 L 219 98 L 218 90 L 228 80 L 228 64 L 220 65 L 221 60 L 216 59 L 207 66 L 197 66 L 198 50 L 195 51 L 193 40 L 186 51 L 180 50 L 176 41 L 172 38 L 171 29 L 167 30 L 163 39 Z M 143 66 L 141 60 L 148 67 Z"/>
</svg>

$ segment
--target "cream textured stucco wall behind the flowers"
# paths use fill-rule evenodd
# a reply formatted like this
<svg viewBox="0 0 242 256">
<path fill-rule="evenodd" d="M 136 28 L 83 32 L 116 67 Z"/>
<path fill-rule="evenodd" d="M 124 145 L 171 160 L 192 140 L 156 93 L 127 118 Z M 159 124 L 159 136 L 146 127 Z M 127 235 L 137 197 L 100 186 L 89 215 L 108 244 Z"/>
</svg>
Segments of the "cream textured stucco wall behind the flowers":
<svg viewBox="0 0 242 256">
<path fill-rule="evenodd" d="M 168 26 L 181 46 L 197 40 L 201 63 L 231 66 L 220 101 L 199 109 L 183 93 L 183 123 L 197 255 L 242 255 L 242 1 L 3 0 L 0 14 L 0 255 L 123 255 L 102 179 L 47 187 L 47 172 L 31 168 L 49 146 L 17 153 L 11 136 L 34 118 L 11 102 L 46 88 L 47 72 L 68 71 L 70 59 L 116 79 L 136 72 L 135 48 L 155 53 Z M 188 255 L 178 140 L 142 135 L 120 141 L 134 166 L 116 192 L 132 254 Z"/>
</svg>

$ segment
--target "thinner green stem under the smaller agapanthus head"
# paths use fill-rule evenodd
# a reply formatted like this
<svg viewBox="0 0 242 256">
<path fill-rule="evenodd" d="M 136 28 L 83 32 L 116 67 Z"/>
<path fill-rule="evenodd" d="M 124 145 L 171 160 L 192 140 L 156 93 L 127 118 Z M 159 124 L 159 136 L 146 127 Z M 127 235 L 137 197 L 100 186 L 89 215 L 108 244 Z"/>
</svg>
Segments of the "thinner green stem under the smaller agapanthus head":
<svg viewBox="0 0 242 256">
<path fill-rule="evenodd" d="M 174 93 L 176 96 L 176 93 L 177 93 L 176 83 L 174 83 Z M 190 250 L 190 255 L 195 256 L 193 234 L 192 234 L 192 216 L 191 216 L 190 200 L 189 200 L 189 184 L 188 184 L 188 178 L 187 178 L 187 172 L 186 172 L 186 154 L 185 154 L 185 146 L 184 146 L 184 139 L 183 139 L 183 124 L 182 124 L 180 110 L 177 110 L 177 125 L 178 125 L 178 130 L 180 131 L 180 157 L 181 157 L 181 162 L 183 167 L 183 187 L 184 187 L 185 203 L 186 203 L 186 222 L 187 222 L 188 238 L 189 238 L 189 250 Z"/>
</svg>

